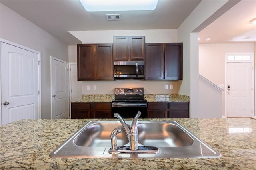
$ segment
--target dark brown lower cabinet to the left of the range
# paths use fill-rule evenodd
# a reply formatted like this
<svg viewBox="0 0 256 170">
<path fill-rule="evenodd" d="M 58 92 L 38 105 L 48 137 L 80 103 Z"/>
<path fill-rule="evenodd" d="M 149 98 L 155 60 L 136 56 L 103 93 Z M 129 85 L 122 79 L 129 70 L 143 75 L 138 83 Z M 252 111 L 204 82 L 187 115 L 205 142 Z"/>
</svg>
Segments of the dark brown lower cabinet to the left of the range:
<svg viewBox="0 0 256 170">
<path fill-rule="evenodd" d="M 111 103 L 71 103 L 71 118 L 111 118 Z"/>
</svg>

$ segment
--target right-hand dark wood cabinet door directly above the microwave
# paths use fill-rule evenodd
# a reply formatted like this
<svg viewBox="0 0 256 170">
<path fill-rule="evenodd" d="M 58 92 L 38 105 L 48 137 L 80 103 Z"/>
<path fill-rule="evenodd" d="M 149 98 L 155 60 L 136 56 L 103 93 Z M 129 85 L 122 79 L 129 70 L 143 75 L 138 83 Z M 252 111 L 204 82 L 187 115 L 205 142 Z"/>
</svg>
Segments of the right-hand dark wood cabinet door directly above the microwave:
<svg viewBox="0 0 256 170">
<path fill-rule="evenodd" d="M 130 36 L 130 60 L 145 60 L 145 36 Z"/>
</svg>

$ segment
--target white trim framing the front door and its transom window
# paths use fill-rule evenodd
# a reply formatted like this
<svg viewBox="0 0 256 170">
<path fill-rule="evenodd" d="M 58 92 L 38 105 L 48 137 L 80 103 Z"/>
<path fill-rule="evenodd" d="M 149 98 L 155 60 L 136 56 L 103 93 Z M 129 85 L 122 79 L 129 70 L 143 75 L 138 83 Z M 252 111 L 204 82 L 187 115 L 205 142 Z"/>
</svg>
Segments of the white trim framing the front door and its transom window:
<svg viewBox="0 0 256 170">
<path fill-rule="evenodd" d="M 250 60 L 244 60 L 244 61 L 228 61 L 228 55 L 250 55 Z M 225 54 L 225 92 L 226 92 L 226 87 L 227 87 L 227 63 L 252 63 L 252 118 L 256 117 L 254 116 L 254 53 L 226 53 Z M 225 116 L 227 117 L 227 93 L 225 93 Z"/>
</svg>

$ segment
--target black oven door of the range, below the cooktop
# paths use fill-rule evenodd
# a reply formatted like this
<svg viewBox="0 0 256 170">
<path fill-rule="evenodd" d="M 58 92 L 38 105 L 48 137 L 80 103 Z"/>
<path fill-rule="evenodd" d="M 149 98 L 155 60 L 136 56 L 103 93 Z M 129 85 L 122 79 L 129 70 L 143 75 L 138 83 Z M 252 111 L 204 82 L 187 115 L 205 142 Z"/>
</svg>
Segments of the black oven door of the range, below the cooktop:
<svg viewBox="0 0 256 170">
<path fill-rule="evenodd" d="M 134 118 L 138 111 L 141 112 L 140 118 L 147 118 L 147 103 L 145 102 L 118 102 L 112 103 L 112 117 L 118 113 L 122 118 Z"/>
</svg>

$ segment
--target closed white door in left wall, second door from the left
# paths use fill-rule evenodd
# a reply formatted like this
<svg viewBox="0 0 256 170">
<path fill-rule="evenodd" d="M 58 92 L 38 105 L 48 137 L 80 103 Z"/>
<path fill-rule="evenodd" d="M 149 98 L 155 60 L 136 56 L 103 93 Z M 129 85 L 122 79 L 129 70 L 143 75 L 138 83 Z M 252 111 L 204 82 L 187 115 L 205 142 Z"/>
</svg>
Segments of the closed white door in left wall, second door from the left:
<svg viewBox="0 0 256 170">
<path fill-rule="evenodd" d="M 68 118 L 68 63 L 51 57 L 52 119 Z"/>
</svg>

